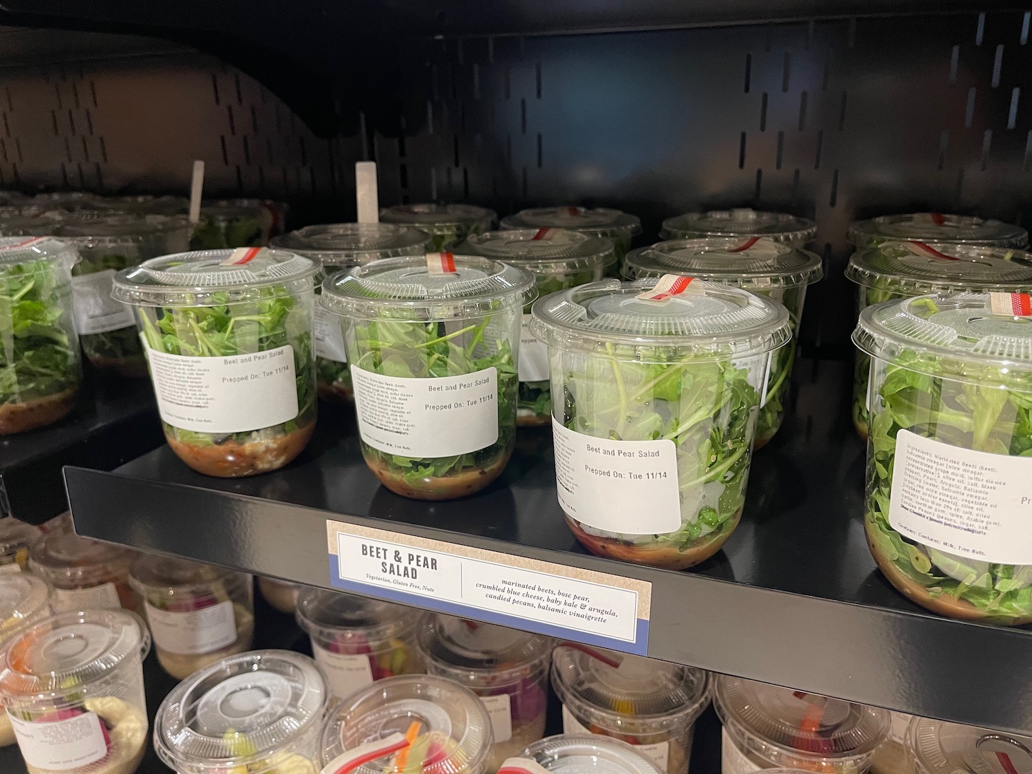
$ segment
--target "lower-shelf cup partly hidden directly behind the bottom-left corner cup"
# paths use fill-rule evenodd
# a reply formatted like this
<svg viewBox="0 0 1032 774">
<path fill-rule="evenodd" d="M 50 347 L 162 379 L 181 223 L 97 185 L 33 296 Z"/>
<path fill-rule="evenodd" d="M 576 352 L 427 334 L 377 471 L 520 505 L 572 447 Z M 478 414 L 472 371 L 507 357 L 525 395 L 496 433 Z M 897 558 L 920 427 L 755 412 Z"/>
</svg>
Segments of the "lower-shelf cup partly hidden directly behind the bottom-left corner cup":
<svg viewBox="0 0 1032 774">
<path fill-rule="evenodd" d="M 129 585 L 129 566 L 136 552 L 80 538 L 72 531 L 51 533 L 29 551 L 29 569 L 54 586 L 54 610 L 140 612 L 140 598 Z"/>
</svg>

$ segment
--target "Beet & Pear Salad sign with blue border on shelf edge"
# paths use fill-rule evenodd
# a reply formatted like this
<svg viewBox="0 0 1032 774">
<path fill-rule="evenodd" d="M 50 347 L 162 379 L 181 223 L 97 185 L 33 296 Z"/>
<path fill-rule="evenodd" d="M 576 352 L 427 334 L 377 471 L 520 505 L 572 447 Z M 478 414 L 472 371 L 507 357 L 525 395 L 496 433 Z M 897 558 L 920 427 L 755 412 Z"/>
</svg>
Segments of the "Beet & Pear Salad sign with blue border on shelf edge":
<svg viewBox="0 0 1032 774">
<path fill-rule="evenodd" d="M 327 533 L 336 588 L 647 652 L 647 581 L 340 521 Z"/>
</svg>

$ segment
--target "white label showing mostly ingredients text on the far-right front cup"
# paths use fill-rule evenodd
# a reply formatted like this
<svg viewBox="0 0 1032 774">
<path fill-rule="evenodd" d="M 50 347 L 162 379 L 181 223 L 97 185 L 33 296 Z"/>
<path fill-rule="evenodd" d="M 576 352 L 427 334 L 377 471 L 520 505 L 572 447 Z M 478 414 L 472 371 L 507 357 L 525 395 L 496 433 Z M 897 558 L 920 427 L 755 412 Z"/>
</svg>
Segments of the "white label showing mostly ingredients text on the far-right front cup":
<svg viewBox="0 0 1032 774">
<path fill-rule="evenodd" d="M 896 437 L 889 523 L 946 553 L 1032 563 L 1032 458 Z"/>
</svg>

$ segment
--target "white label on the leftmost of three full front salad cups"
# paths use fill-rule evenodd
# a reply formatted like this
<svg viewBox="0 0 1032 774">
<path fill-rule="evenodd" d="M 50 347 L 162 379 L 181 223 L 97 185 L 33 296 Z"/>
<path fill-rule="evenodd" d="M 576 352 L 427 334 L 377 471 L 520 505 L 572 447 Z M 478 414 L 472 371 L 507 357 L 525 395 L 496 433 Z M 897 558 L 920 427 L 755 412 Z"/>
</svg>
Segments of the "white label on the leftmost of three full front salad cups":
<svg viewBox="0 0 1032 774">
<path fill-rule="evenodd" d="M 196 432 L 249 432 L 297 416 L 294 348 L 229 357 L 148 350 L 161 418 Z"/>
</svg>

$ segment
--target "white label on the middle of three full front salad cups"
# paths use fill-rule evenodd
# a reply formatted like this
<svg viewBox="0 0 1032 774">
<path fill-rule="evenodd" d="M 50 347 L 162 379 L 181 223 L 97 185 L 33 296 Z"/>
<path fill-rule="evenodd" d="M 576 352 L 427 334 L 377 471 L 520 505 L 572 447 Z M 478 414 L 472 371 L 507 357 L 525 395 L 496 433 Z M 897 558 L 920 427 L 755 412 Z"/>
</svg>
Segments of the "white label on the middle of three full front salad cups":
<svg viewBox="0 0 1032 774">
<path fill-rule="evenodd" d="M 404 457 L 451 457 L 498 440 L 494 366 L 458 377 L 385 377 L 351 366 L 362 441 Z"/>
</svg>

